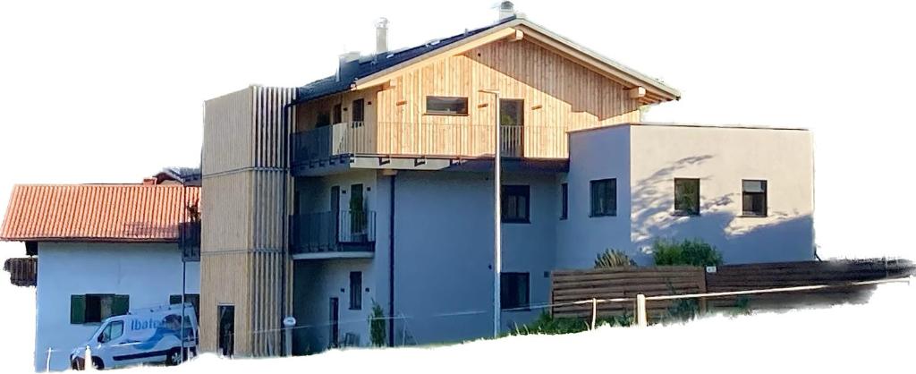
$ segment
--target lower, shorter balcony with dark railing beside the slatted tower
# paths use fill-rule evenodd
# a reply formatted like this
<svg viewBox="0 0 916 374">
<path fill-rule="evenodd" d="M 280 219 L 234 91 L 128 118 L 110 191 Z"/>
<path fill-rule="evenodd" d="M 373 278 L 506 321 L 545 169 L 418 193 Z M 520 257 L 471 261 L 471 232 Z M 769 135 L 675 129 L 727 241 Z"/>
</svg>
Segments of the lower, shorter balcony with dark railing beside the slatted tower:
<svg viewBox="0 0 916 374">
<path fill-rule="evenodd" d="M 294 259 L 366 258 L 375 251 L 375 212 L 321 212 L 290 218 Z"/>
</svg>

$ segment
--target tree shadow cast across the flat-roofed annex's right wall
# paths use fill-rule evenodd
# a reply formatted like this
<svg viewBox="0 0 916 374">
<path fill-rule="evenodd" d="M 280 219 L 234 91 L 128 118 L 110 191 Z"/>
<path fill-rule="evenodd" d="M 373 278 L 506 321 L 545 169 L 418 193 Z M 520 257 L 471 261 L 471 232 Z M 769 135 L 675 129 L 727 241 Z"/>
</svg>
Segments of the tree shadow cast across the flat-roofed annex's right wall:
<svg viewBox="0 0 916 374">
<path fill-rule="evenodd" d="M 679 159 L 634 184 L 630 241 L 640 264 L 653 262 L 651 246 L 660 238 L 702 239 L 722 252 L 728 264 L 814 259 L 811 214 L 770 210 L 766 217 L 737 216 L 739 191 L 703 193 L 704 181 L 710 181 L 711 175 L 698 177 L 701 215 L 674 214 L 674 177 L 679 170 L 702 166 L 709 159 L 713 156 Z"/>
</svg>

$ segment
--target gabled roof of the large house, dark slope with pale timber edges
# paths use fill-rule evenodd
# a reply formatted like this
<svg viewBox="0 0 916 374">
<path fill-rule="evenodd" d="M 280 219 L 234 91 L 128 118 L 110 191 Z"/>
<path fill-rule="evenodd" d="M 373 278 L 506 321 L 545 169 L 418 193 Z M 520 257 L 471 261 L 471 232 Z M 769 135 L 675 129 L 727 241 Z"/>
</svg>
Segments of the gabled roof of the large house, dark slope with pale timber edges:
<svg viewBox="0 0 916 374">
<path fill-rule="evenodd" d="M 563 38 L 528 19 L 508 17 L 485 28 L 468 30 L 462 34 L 438 39 L 417 47 L 398 49 L 369 56 L 368 58 L 342 62 L 337 74 L 300 87 L 297 90 L 297 98 L 294 103 L 304 103 L 329 94 L 342 93 L 351 89 L 360 89 L 365 86 L 376 85 L 374 80 L 379 77 L 404 69 L 433 55 L 438 55 L 441 52 L 459 48 L 462 45 L 474 42 L 474 40 L 493 36 L 508 28 L 529 32 L 536 40 L 540 40 L 536 42 L 539 42 L 541 45 L 563 49 L 563 54 L 566 55 L 565 57 L 572 60 L 578 60 L 580 63 L 583 63 L 583 65 L 604 72 L 605 75 L 614 78 L 616 81 L 625 83 L 627 88 L 646 88 L 650 93 L 650 97 L 653 98 L 653 101 L 660 102 L 681 98 L 680 92 L 663 82 L 649 78 L 645 74 L 631 69 L 615 60 L 607 59 L 593 50 L 586 49 L 574 43 L 572 40 Z"/>
</svg>

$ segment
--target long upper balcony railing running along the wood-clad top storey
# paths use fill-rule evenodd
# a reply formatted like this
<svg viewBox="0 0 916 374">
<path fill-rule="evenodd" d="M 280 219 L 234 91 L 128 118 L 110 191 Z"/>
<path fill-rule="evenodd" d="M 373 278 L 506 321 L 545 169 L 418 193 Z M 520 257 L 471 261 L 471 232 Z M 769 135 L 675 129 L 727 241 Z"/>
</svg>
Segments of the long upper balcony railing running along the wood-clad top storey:
<svg viewBox="0 0 916 374">
<path fill-rule="evenodd" d="M 292 135 L 294 167 L 340 156 L 474 159 L 493 156 L 493 125 L 349 122 Z M 507 158 L 566 158 L 566 132 L 554 126 L 500 126 Z"/>
</svg>

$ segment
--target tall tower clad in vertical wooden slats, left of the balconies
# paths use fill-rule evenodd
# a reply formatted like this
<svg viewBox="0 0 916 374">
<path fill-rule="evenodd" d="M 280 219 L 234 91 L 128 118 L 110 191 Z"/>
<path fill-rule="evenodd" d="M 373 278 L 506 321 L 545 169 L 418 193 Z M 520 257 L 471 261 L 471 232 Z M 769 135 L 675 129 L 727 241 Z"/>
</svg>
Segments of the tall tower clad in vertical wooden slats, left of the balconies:
<svg viewBox="0 0 916 374">
<path fill-rule="evenodd" d="M 294 89 L 249 87 L 205 104 L 202 348 L 216 349 L 217 306 L 235 305 L 239 356 L 278 354 L 286 246 L 283 105 Z M 289 124 L 293 126 L 294 124 Z M 289 273 L 288 273 L 289 274 Z M 289 277 L 288 277 L 289 278 Z M 286 293 L 290 295 L 289 290 Z"/>
</svg>

